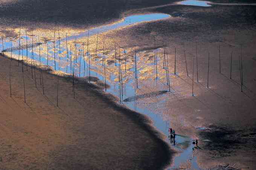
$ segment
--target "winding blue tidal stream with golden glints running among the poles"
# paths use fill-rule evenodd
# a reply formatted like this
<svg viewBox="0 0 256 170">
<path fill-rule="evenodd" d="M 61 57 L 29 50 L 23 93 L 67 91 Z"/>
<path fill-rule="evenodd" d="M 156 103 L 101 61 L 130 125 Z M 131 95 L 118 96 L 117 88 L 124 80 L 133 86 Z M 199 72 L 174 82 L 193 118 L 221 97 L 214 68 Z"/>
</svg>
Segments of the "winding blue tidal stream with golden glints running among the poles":
<svg viewBox="0 0 256 170">
<path fill-rule="evenodd" d="M 160 20 L 160 19 L 165 19 L 165 18 L 169 18 L 169 17 L 170 17 L 170 15 L 167 15 L 167 14 L 133 15 L 130 17 L 125 17 L 124 20 L 122 20 L 118 23 L 93 28 L 93 29 L 89 30 L 89 36 L 95 35 L 97 33 L 106 32 L 108 30 L 114 30 L 114 29 L 118 29 L 120 27 L 129 26 L 131 24 Z M 87 37 L 87 35 L 88 35 L 88 32 L 86 31 L 86 32 L 80 33 L 79 35 L 72 35 L 72 36 L 67 37 L 67 41 L 69 41 L 68 42 L 69 53 L 71 53 L 71 55 L 72 55 L 71 61 L 70 61 L 70 55 L 69 55 L 69 58 L 67 58 L 66 38 L 62 38 L 62 39 L 60 39 L 60 41 L 55 42 L 55 52 L 53 50 L 53 43 L 49 41 L 48 42 L 48 45 L 49 45 L 48 65 L 51 66 L 53 69 L 56 68 L 56 70 L 62 71 L 64 73 L 69 73 L 69 74 L 72 74 L 72 70 L 75 67 L 75 69 L 74 69 L 75 75 L 78 77 L 79 76 L 83 77 L 83 76 L 89 75 L 89 69 L 88 69 L 89 65 L 88 64 L 89 64 L 89 57 L 90 57 L 90 76 L 98 77 L 100 80 L 102 80 L 104 82 L 105 77 L 104 77 L 104 70 L 103 70 L 104 67 L 102 66 L 102 55 L 97 53 L 97 57 L 94 57 L 94 55 L 90 54 L 89 51 L 88 52 L 83 51 L 81 44 L 76 44 L 76 46 L 75 46 L 75 44 L 73 43 L 73 39 L 76 38 L 77 42 L 79 42 L 79 38 L 85 38 L 85 37 Z M 58 37 L 58 35 L 56 35 L 56 37 Z M 26 43 L 26 39 L 27 39 L 27 41 L 31 42 L 31 37 L 26 38 L 26 36 L 23 35 L 23 36 L 21 36 L 21 38 L 23 39 L 23 41 L 24 40 L 25 41 L 20 45 L 24 46 Z M 11 42 L 9 40 L 8 40 L 8 38 L 5 39 L 5 42 L 4 42 L 5 49 L 8 49 L 11 47 Z M 18 46 L 18 39 L 15 41 L 13 42 L 13 47 Z M 38 38 L 34 37 L 34 43 L 37 43 L 36 41 L 38 41 Z M 40 46 L 37 46 L 37 47 L 34 46 L 33 53 L 32 53 L 32 49 L 29 47 L 31 47 L 31 46 L 30 45 L 28 46 L 28 50 L 24 49 L 23 47 L 21 47 L 23 49 L 14 48 L 12 50 L 12 55 L 13 56 L 16 55 L 16 57 L 18 55 L 20 55 L 20 59 L 25 58 L 24 60 L 26 60 L 25 55 L 27 54 L 29 60 L 33 56 L 33 58 L 36 61 L 41 61 L 41 63 L 43 65 L 46 65 L 47 64 L 47 46 L 46 46 L 46 44 L 40 44 Z M 2 48 L 3 47 L 1 44 L 0 49 L 2 49 Z M 41 50 L 40 55 L 39 55 L 39 48 Z M 72 52 L 70 52 L 70 49 L 72 49 Z M 126 49 L 126 50 L 128 50 L 128 49 Z M 130 49 L 130 55 L 133 55 L 132 50 L 133 49 Z M 83 56 L 83 53 L 85 54 L 85 58 Z M 107 61 L 113 60 L 113 58 L 110 59 L 110 57 L 113 53 L 114 53 L 113 50 L 108 51 L 108 54 L 105 55 L 105 58 L 107 59 Z M 125 51 L 125 53 L 128 53 L 128 51 Z M 154 53 L 154 50 L 152 50 L 152 53 Z M 10 52 L 5 52 L 5 54 L 10 56 Z M 54 60 L 53 60 L 54 54 L 55 54 L 56 62 L 54 62 Z M 122 52 L 121 54 L 124 55 L 124 52 Z M 76 56 L 76 58 L 74 56 Z M 137 54 L 137 61 L 138 61 L 138 65 L 143 65 L 143 67 L 147 67 L 147 68 L 152 67 L 152 69 L 155 67 L 155 65 L 153 63 L 154 60 L 152 61 L 152 63 L 143 63 L 142 62 L 143 58 L 140 58 L 140 53 Z M 30 63 L 30 62 L 28 62 L 28 63 Z M 124 70 L 123 65 L 124 64 L 122 61 L 122 71 Z M 133 59 L 131 59 L 131 58 L 129 59 L 127 67 L 129 68 L 129 69 L 127 69 L 127 72 L 126 73 L 123 72 L 123 76 L 124 76 L 123 79 L 126 80 L 126 82 L 123 85 L 123 88 L 124 88 L 124 93 L 123 93 L 123 97 L 122 97 L 123 99 L 127 99 L 129 97 L 134 97 L 138 93 L 138 91 L 136 92 L 136 88 L 135 88 L 136 84 L 135 84 L 135 79 L 134 79 L 135 70 L 134 70 Z M 106 81 L 110 85 L 110 88 L 107 89 L 107 93 L 111 93 L 114 96 L 119 97 L 120 96 L 120 88 L 119 88 L 119 84 L 118 84 L 119 83 L 118 82 L 118 76 L 119 76 L 118 68 L 119 68 L 119 61 L 117 61 L 116 66 L 115 66 L 115 64 L 108 65 L 108 67 L 106 68 L 106 72 L 108 73 L 107 77 L 106 77 Z M 143 68 L 140 67 L 140 68 L 138 68 L 138 71 L 140 71 L 142 69 Z M 150 71 L 149 71 L 149 73 L 150 73 Z M 140 73 L 140 74 L 142 74 L 142 73 Z M 165 71 L 163 71 L 163 73 L 160 73 L 160 70 L 159 70 L 159 74 L 162 74 L 162 77 L 163 77 L 163 75 L 165 75 Z M 147 77 L 146 80 L 155 81 L 155 79 L 150 76 Z M 158 91 L 159 90 L 162 90 L 162 91 L 168 90 L 168 86 L 166 85 L 166 83 L 163 83 L 161 81 L 161 79 L 159 79 L 155 82 L 157 83 L 156 87 L 157 87 Z M 140 86 L 142 86 L 142 84 L 143 83 L 140 82 Z M 146 88 L 145 85 L 144 85 L 144 88 Z M 149 94 L 151 94 L 151 93 L 149 93 Z M 153 123 L 154 123 L 153 125 L 159 131 L 161 131 L 163 134 L 166 135 L 166 142 L 170 143 L 170 141 L 168 139 L 168 135 L 169 135 L 168 128 L 170 127 L 170 124 L 168 123 L 169 120 L 164 121 L 163 117 L 160 114 L 151 112 L 148 109 L 137 107 L 136 102 L 137 102 L 136 100 L 131 101 L 131 102 L 126 102 L 125 105 L 128 106 L 130 109 L 133 109 L 142 114 L 148 115 L 153 120 Z M 162 101 L 162 102 L 164 102 L 164 101 Z M 190 139 L 189 137 L 184 137 L 182 135 L 177 134 L 177 136 L 175 138 L 175 146 L 174 146 L 174 143 L 171 143 L 171 145 L 173 147 L 175 147 L 175 149 L 181 150 L 180 155 L 174 158 L 174 167 L 178 167 L 180 164 L 187 162 L 187 160 L 193 159 L 192 158 L 192 155 L 193 155 L 192 149 L 194 146 L 192 145 L 192 139 Z M 198 167 L 198 165 L 195 165 L 195 163 L 193 163 L 193 166 L 196 168 Z"/>
</svg>

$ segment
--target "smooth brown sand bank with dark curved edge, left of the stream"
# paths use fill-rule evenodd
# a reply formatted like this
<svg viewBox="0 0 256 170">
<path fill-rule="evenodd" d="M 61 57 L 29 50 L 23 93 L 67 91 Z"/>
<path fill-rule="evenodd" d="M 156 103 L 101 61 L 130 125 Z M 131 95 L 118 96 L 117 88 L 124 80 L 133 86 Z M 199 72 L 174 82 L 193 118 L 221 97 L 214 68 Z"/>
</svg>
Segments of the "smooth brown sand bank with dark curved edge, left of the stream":
<svg viewBox="0 0 256 170">
<path fill-rule="evenodd" d="M 31 79 L 30 67 L 0 57 L 1 169 L 161 169 L 171 152 L 146 117 L 118 106 L 87 82 L 76 84 L 39 70 Z M 24 66 L 24 70 L 26 67 Z M 91 88 L 91 90 L 90 90 Z"/>
</svg>

